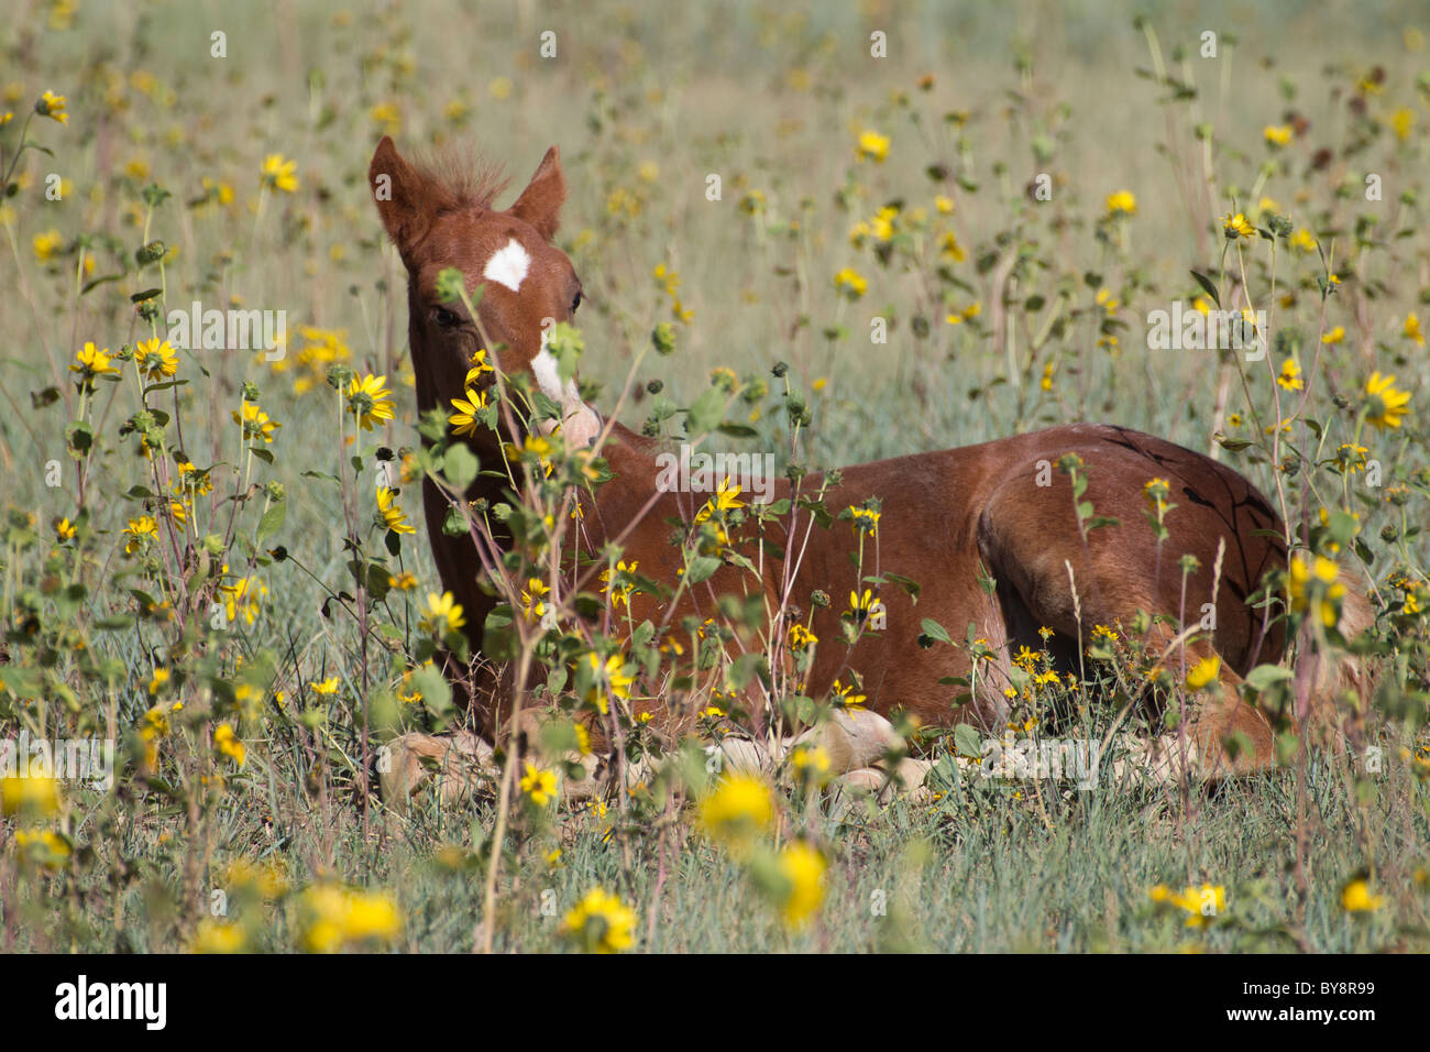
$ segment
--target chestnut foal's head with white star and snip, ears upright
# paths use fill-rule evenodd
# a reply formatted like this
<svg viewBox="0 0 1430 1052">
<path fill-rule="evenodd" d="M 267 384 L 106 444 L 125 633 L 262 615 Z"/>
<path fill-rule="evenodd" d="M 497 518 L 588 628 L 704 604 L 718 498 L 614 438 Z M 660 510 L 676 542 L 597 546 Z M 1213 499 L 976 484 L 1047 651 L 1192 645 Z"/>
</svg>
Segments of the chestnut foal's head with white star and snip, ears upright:
<svg viewBox="0 0 1430 1052">
<path fill-rule="evenodd" d="M 485 285 L 478 315 L 488 348 L 508 374 L 528 372 L 562 406 L 566 441 L 586 445 L 601 429 L 582 405 L 573 381 L 562 382 L 543 348 L 543 331 L 569 322 L 581 305 L 581 281 L 566 253 L 551 245 L 566 180 L 552 146 L 516 202 L 492 208 L 503 180 L 472 172 L 439 173 L 412 165 L 383 136 L 368 169 L 382 225 L 408 268 L 412 358 L 418 406 L 450 409 L 460 398 L 472 356 L 482 348 L 478 326 L 460 301 L 443 303 L 438 275 L 458 268 L 468 292 Z M 483 384 L 490 374 L 483 375 Z"/>
</svg>

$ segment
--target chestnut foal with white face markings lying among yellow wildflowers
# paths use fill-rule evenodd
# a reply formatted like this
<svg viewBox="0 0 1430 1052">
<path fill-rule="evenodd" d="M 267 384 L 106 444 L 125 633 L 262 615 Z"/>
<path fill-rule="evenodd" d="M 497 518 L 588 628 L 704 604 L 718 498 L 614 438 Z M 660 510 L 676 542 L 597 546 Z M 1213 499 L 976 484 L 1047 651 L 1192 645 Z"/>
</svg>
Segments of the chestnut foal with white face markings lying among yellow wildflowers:
<svg viewBox="0 0 1430 1052">
<path fill-rule="evenodd" d="M 499 368 L 508 375 L 531 374 L 562 406 L 568 442 L 585 445 L 599 437 L 599 452 L 613 479 L 593 500 L 583 495 L 585 514 L 573 525 L 571 544 L 596 552 L 623 537 L 626 558 L 639 561 L 642 575 L 674 583 L 682 561 L 679 548 L 669 542 L 668 520 L 691 522 L 689 495 L 656 492 L 655 455 L 661 447 L 621 424 L 603 424 L 581 402 L 575 384 L 561 381 L 543 348 L 543 319 L 571 321 L 581 303 L 581 281 L 571 260 L 551 245 L 566 198 L 556 147 L 505 210 L 493 208 L 500 190 L 493 179 L 415 166 L 389 137 L 373 155 L 369 185 L 408 269 L 419 409 L 450 411 L 450 399 L 463 395 L 472 355 L 480 346 L 478 326 L 462 305 L 438 296 L 439 272 L 459 268 L 469 288 L 485 285 L 479 321 L 499 348 Z M 483 431 L 468 441 L 485 465 L 500 462 L 499 442 L 508 438 Z M 1067 454 L 1085 465 L 1087 490 L 1078 500 L 1120 525 L 1084 531 L 1070 475 L 1055 467 Z M 1160 548 L 1144 518 L 1144 485 L 1153 478 L 1167 479 L 1168 500 L 1177 505 L 1167 515 L 1170 537 Z M 468 500 L 495 502 L 503 487 L 500 479 L 479 477 Z M 788 492 L 788 484 L 776 487 L 775 498 Z M 1287 547 L 1280 517 L 1231 468 L 1127 428 L 1077 424 L 844 468 L 825 504 L 838 511 L 869 497 L 882 501 L 879 571 L 918 581 L 918 605 L 904 591 L 885 588 L 879 597 L 884 630 L 862 634 L 852 650 L 835 643 L 841 635 L 838 610 L 817 610 L 812 631 L 827 644 L 817 648 L 809 696 L 824 697 L 841 676 L 849 683 L 854 670 L 869 708 L 879 716 L 901 708 L 924 724 L 970 723 L 997 737 L 1008 716 L 1004 690 L 1018 648 L 1047 648 L 1060 667 L 1077 670 L 1080 648 L 1094 625 L 1123 625 L 1125 631 L 1138 611 L 1148 611 L 1175 624 L 1185 618 L 1193 627 L 1210 625 L 1207 631 L 1178 633 L 1163 618 L 1154 620 L 1148 643 L 1164 654 L 1178 681 L 1201 658 L 1220 657 L 1220 681 L 1198 696 L 1184 731 L 1175 736 L 1177 749 L 1165 739 L 1145 747 L 1150 767 L 1160 777 L 1183 770 L 1217 777 L 1271 761 L 1271 726 L 1236 687 L 1254 664 L 1276 661 L 1286 648 L 1280 621 L 1264 617 L 1247 600 L 1268 573 L 1286 568 Z M 695 507 L 702 501 L 696 498 Z M 496 600 L 479 585 L 482 570 L 472 540 L 442 531 L 448 500 L 430 481 L 423 505 L 443 587 L 466 610 L 466 631 L 479 653 L 483 621 Z M 646 512 L 638 518 L 641 508 Z M 788 547 L 789 558 L 799 554 L 792 573 L 768 554 L 759 562 L 766 567 L 769 610 L 782 601 L 805 605 L 815 590 L 842 595 L 854 583 L 849 531 L 814 528 L 807 535 L 801 525 L 792 544 L 778 531 L 766 537 Z M 1177 567 L 1183 554 L 1200 561 L 1185 585 Z M 688 614 L 702 620 L 714 615 L 716 595 L 749 590 L 745 573 L 726 565 L 706 585 L 684 590 L 674 607 L 636 593 L 631 597 L 633 623 L 649 618 L 661 627 Z M 1369 623 L 1369 604 L 1357 588 L 1347 593 L 1343 630 L 1350 635 Z M 970 653 L 947 644 L 921 647 L 922 618 L 938 621 L 955 637 L 972 625 L 974 635 L 994 651 L 978 670 L 975 694 L 965 694 L 962 704 L 954 704 L 954 690 L 940 680 L 967 677 Z M 1045 630 L 1052 635 L 1045 637 Z M 489 673 L 472 691 L 476 727 L 492 740 L 503 730 L 509 693 L 509 683 L 503 687 Z M 681 730 L 681 720 L 659 698 L 639 703 L 636 711 L 641 706 Z M 841 717 L 822 733 L 825 744 L 845 761 L 839 764 L 844 769 L 868 766 L 895 737 L 885 720 L 867 713 Z M 1236 759 L 1223 747 L 1233 736 L 1240 740 Z M 410 787 L 419 759 L 443 757 L 450 747 L 426 736 L 406 736 L 400 743 L 406 754 L 389 789 Z M 459 749 L 478 767 L 489 763 L 490 746 L 470 736 L 459 739 Z M 861 780 L 869 783 L 868 777 Z"/>
</svg>

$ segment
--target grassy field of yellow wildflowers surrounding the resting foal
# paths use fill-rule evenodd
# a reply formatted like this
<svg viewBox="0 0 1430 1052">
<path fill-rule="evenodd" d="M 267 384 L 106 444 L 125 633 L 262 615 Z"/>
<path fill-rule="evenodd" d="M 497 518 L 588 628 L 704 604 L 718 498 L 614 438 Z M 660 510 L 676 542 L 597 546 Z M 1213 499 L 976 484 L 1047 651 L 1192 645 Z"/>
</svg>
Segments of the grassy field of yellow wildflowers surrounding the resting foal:
<svg viewBox="0 0 1430 1052">
<path fill-rule="evenodd" d="M 1430 21 L 1113 7 L 14 4 L 0 949 L 1430 949 Z M 525 487 L 473 514 L 515 537 L 486 657 L 551 713 L 546 750 L 498 751 L 459 802 L 378 793 L 396 736 L 466 726 L 422 479 L 496 468 L 450 435 L 499 409 L 472 391 L 419 418 L 368 180 L 383 135 L 470 142 L 513 187 L 559 145 L 583 303 L 552 346 L 605 417 L 807 478 L 801 507 L 851 538 L 848 580 L 808 597 L 848 605 L 844 638 L 734 601 L 626 623 L 656 585 L 619 551 L 556 608 L 542 560 L 601 461 L 529 434 L 500 465 Z M 1358 658 L 1343 749 L 1283 719 L 1271 770 L 1080 787 L 985 777 L 978 736 L 904 721 L 924 792 L 869 799 L 831 793 L 818 749 L 772 779 L 705 761 L 751 719 L 861 708 L 854 677 L 805 696 L 809 653 L 918 587 L 879 575 L 877 504 L 821 505 L 827 468 L 1077 421 L 1214 452 L 1293 524 L 1294 658 L 1244 690 L 1286 711 L 1297 661 Z M 1177 517 L 1137 482 L 1140 528 Z M 748 498 L 672 538 L 686 578 L 799 512 Z M 1356 637 L 1341 570 L 1374 611 Z M 1217 674 L 1090 630 L 1081 677 L 1015 658 L 1010 733 L 1058 708 L 1107 741 L 1144 684 Z M 918 646 L 977 663 L 967 635 Z M 659 691 L 699 740 L 633 714 Z M 651 776 L 563 802 L 588 726 Z"/>
</svg>

